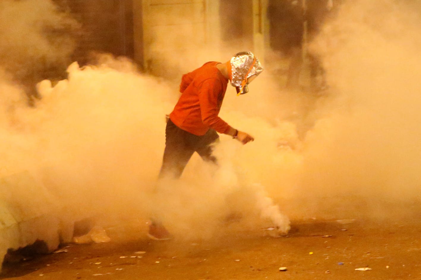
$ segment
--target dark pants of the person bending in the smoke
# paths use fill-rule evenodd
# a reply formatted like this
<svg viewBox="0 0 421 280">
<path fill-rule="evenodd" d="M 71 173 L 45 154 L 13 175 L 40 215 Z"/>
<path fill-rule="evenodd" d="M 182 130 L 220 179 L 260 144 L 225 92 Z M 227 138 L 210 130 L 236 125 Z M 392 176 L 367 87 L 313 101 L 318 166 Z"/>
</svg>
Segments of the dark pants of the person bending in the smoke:
<svg viewBox="0 0 421 280">
<path fill-rule="evenodd" d="M 165 128 L 165 150 L 159 178 L 179 178 L 184 167 L 189 162 L 194 152 L 197 152 L 205 161 L 216 163 L 212 155 L 211 144 L 219 138 L 215 130 L 209 129 L 203 136 L 189 133 L 171 120 L 168 120 Z"/>
</svg>

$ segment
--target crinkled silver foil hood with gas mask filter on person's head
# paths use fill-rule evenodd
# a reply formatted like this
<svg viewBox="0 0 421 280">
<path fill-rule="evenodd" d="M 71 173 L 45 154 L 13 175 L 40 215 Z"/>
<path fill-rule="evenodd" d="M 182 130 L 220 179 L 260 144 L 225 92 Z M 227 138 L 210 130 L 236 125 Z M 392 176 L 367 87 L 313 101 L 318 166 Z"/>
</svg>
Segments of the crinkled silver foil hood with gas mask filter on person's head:
<svg viewBox="0 0 421 280">
<path fill-rule="evenodd" d="M 263 71 L 259 60 L 252 52 L 239 52 L 231 60 L 231 85 L 235 86 L 237 95 L 248 92 L 248 84 Z"/>
</svg>

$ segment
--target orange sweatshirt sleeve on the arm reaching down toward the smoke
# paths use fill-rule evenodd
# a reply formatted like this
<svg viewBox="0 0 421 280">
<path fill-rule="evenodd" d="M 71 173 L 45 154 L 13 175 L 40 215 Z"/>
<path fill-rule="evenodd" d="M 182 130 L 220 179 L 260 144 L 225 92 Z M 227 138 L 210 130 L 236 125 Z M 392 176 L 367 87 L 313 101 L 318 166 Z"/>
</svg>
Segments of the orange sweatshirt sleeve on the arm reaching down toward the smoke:
<svg viewBox="0 0 421 280">
<path fill-rule="evenodd" d="M 218 117 L 221 104 L 218 104 L 222 92 L 222 85 L 217 79 L 203 81 L 199 88 L 199 103 L 202 122 L 219 133 L 229 131 L 229 125 Z M 222 102 L 222 100 L 221 100 Z"/>
</svg>

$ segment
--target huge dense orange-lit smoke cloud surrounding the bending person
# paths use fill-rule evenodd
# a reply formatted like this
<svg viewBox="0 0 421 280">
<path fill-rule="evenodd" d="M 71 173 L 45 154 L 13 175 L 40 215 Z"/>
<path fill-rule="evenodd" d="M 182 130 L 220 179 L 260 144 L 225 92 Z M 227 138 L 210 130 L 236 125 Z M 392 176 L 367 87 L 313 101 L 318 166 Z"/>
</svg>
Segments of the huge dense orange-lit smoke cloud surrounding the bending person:
<svg viewBox="0 0 421 280">
<path fill-rule="evenodd" d="M 73 63 L 68 79 L 38 85 L 43 99 L 36 108 L 1 81 L 0 175 L 29 170 L 73 220 L 157 215 L 187 237 L 211 236 L 232 212 L 248 217 L 243 228 L 266 221 L 288 229 L 282 212 L 342 218 L 358 206 L 346 199 L 339 205 L 344 197 L 417 199 L 419 22 L 403 5 L 375 2 L 344 4 L 314 42 L 331 88 L 311 110 L 270 73 L 242 97 L 228 88 L 220 116 L 256 140 L 242 146 L 222 135 L 215 147 L 220 168 L 194 155 L 179 181 L 157 183 L 164 116 L 178 85 L 141 75 L 123 59 L 82 69 Z M 387 29 L 384 18 L 394 19 Z M 305 112 L 303 122 L 287 118 L 293 111 Z M 304 136 L 297 133 L 302 123 L 312 124 Z M 332 202 L 329 212 L 317 211 L 329 207 L 320 201 Z"/>
</svg>

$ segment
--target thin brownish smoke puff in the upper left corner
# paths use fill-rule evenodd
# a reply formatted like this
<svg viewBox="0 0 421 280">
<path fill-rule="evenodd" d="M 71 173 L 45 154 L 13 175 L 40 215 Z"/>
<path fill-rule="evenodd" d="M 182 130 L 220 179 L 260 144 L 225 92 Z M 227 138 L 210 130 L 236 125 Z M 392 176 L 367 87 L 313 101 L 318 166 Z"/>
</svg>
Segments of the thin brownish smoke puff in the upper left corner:
<svg viewBox="0 0 421 280">
<path fill-rule="evenodd" d="M 52 0 L 3 0 L 0 3 L 0 65 L 19 81 L 46 68 L 71 62 L 77 21 Z"/>
</svg>

